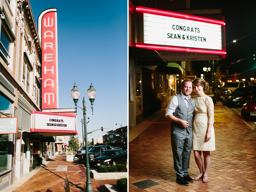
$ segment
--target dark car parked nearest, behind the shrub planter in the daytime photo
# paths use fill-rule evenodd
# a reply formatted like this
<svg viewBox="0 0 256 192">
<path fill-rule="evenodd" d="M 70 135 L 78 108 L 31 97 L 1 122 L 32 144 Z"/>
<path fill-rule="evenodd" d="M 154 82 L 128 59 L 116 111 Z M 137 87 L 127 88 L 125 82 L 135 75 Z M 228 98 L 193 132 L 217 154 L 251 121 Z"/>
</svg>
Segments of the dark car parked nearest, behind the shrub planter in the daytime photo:
<svg viewBox="0 0 256 192">
<path fill-rule="evenodd" d="M 95 166 L 99 165 L 116 165 L 116 164 L 126 164 L 127 153 L 124 150 L 112 149 L 101 153 L 98 157 L 94 158 Z"/>
</svg>

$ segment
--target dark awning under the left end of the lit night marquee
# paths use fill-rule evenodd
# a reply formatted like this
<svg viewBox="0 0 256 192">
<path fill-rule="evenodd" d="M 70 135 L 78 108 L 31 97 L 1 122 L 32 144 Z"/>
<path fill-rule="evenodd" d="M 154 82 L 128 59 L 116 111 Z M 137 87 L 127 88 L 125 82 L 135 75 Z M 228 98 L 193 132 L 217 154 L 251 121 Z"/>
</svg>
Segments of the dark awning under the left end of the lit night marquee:
<svg viewBox="0 0 256 192">
<path fill-rule="evenodd" d="M 157 51 L 129 46 L 129 58 L 134 58 L 137 65 L 166 66 L 167 60 Z"/>
</svg>

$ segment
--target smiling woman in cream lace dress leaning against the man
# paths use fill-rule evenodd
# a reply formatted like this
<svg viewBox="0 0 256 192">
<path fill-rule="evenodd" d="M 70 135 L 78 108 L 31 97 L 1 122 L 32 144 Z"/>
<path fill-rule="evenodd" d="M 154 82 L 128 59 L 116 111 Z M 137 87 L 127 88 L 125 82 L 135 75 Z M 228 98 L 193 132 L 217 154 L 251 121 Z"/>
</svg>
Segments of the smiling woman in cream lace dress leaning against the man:
<svg viewBox="0 0 256 192">
<path fill-rule="evenodd" d="M 195 101 L 193 122 L 193 144 L 195 162 L 199 168 L 199 175 L 194 180 L 203 179 L 203 183 L 209 181 L 208 169 L 211 162 L 210 151 L 215 150 L 214 136 L 214 105 L 212 99 L 204 92 L 209 90 L 209 84 L 201 78 L 193 80 L 193 89 L 198 94 L 193 97 Z M 203 152 L 204 162 L 201 154 Z M 203 170 L 204 163 L 204 170 Z"/>
</svg>

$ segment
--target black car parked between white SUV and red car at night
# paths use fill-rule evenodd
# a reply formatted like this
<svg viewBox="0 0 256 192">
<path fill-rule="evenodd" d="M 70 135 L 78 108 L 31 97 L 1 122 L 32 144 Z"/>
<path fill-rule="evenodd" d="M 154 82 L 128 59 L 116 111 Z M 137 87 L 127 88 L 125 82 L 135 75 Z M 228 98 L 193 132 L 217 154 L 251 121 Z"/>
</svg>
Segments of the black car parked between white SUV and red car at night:
<svg viewBox="0 0 256 192">
<path fill-rule="evenodd" d="M 243 105 L 256 94 L 256 86 L 237 88 L 234 92 L 226 95 L 222 104 L 226 106 Z"/>
</svg>

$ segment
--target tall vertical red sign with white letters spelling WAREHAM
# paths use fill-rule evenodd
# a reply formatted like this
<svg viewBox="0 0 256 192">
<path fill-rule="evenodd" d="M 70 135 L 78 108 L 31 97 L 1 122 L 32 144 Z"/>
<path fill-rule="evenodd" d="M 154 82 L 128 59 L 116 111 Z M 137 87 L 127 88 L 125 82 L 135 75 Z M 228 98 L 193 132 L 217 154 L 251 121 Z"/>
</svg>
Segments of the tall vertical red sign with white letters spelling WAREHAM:
<svg viewBox="0 0 256 192">
<path fill-rule="evenodd" d="M 57 109 L 58 38 L 57 9 L 46 9 L 38 17 L 38 34 L 42 43 L 42 109 Z"/>
</svg>

